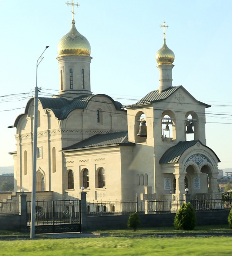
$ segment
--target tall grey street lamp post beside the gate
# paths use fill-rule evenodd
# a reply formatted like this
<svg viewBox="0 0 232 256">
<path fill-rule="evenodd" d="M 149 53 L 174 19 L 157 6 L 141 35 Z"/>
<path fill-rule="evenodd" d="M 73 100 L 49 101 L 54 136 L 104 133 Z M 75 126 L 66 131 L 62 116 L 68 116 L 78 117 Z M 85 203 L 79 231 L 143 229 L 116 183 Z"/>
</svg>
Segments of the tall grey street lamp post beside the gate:
<svg viewBox="0 0 232 256">
<path fill-rule="evenodd" d="M 49 46 L 46 46 L 43 53 Z M 38 86 L 37 86 L 37 71 L 38 65 L 43 60 L 43 53 L 39 56 L 36 62 L 36 87 L 34 98 L 34 131 L 33 131 L 33 159 L 32 159 L 32 191 L 31 191 L 31 228 L 30 238 L 35 238 L 35 203 L 36 203 L 36 158 L 37 158 L 37 125 L 38 125 Z"/>
</svg>

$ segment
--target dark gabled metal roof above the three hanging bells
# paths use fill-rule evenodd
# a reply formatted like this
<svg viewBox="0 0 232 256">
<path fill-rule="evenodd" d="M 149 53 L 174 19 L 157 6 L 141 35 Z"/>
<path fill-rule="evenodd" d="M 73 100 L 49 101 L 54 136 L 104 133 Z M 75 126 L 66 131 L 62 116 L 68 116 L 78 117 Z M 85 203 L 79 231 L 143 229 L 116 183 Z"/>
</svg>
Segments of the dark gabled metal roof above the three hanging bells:
<svg viewBox="0 0 232 256">
<path fill-rule="evenodd" d="M 174 92 L 176 92 L 179 88 L 181 88 L 186 94 L 189 95 L 190 98 L 192 98 L 197 103 L 205 105 L 206 108 L 211 107 L 208 104 L 205 104 L 201 101 L 196 100 L 182 85 L 171 86 L 171 87 L 169 87 L 166 90 L 161 91 L 161 92 L 159 92 L 159 90 L 151 91 L 145 97 L 143 97 L 141 100 L 139 100 L 137 103 L 129 105 L 129 106 L 124 106 L 124 107 L 125 108 L 136 107 L 136 106 L 150 104 L 150 103 L 157 102 L 157 101 L 166 100 L 170 95 L 172 95 Z"/>
</svg>

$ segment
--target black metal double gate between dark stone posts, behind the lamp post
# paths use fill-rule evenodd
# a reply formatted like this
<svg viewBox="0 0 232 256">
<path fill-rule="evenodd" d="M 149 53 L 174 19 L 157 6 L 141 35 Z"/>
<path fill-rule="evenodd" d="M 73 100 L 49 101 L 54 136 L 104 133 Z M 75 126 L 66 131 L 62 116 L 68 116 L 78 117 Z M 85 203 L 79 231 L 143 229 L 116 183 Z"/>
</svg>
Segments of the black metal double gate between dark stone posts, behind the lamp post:
<svg viewBox="0 0 232 256">
<path fill-rule="evenodd" d="M 35 233 L 81 232 L 81 201 L 36 201 Z M 31 225 L 31 201 L 27 202 L 27 227 Z"/>
</svg>

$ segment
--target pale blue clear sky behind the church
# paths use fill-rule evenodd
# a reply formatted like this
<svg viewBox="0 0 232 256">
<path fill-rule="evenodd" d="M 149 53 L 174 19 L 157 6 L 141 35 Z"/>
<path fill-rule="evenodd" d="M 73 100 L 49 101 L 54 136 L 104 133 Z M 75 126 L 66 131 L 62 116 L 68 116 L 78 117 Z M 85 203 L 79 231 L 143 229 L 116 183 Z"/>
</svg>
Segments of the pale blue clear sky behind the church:
<svg viewBox="0 0 232 256">
<path fill-rule="evenodd" d="M 0 166 L 13 165 L 8 152 L 16 150 L 16 130 L 7 126 L 24 112 L 28 100 L 21 100 L 21 95 L 18 101 L 2 96 L 33 96 L 36 61 L 46 45 L 49 48 L 38 68 L 40 95 L 56 94 L 59 89 L 57 44 L 71 28 L 72 20 L 71 8 L 65 2 L 0 1 Z M 166 21 L 166 42 L 175 53 L 173 85 L 183 85 L 197 100 L 212 104 L 206 109 L 207 146 L 221 159 L 220 168 L 232 167 L 232 1 L 78 3 L 76 27 L 92 48 L 91 90 L 108 94 L 122 104 L 132 103 L 128 99 L 138 101 L 158 89 L 155 54 L 163 44 L 159 25 Z M 15 108 L 22 109 L 4 111 Z"/>
</svg>

